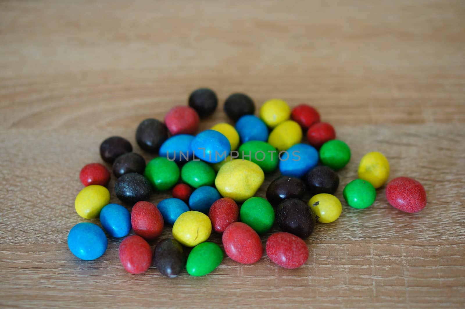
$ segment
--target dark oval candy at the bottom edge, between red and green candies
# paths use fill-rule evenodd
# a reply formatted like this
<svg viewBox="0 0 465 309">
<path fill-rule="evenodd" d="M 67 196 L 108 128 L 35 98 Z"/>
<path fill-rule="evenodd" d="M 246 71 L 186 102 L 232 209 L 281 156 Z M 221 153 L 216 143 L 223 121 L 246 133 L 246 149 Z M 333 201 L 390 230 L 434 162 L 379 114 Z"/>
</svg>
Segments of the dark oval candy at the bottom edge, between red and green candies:
<svg viewBox="0 0 465 309">
<path fill-rule="evenodd" d="M 176 277 L 186 265 L 184 248 L 174 239 L 162 240 L 153 252 L 153 264 L 162 275 L 168 278 Z"/>
</svg>

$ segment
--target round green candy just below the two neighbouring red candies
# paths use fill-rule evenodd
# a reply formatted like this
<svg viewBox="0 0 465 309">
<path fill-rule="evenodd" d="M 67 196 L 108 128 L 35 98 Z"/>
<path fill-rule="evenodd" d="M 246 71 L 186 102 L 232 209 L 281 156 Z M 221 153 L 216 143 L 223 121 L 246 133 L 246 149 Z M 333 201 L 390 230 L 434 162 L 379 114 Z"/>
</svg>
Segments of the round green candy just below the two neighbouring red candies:
<svg viewBox="0 0 465 309">
<path fill-rule="evenodd" d="M 343 141 L 327 141 L 321 146 L 319 155 L 323 165 L 332 169 L 341 169 L 350 161 L 350 148 Z"/>
</svg>

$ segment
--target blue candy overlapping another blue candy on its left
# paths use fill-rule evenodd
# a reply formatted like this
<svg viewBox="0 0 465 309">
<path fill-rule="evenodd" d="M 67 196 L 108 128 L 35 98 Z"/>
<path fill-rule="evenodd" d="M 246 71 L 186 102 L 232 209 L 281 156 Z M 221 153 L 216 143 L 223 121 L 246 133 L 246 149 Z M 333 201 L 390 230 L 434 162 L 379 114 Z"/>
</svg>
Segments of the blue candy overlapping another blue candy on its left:
<svg viewBox="0 0 465 309">
<path fill-rule="evenodd" d="M 231 144 L 225 135 L 214 130 L 197 134 L 191 143 L 195 156 L 203 161 L 218 163 L 224 161 L 231 152 Z"/>
</svg>

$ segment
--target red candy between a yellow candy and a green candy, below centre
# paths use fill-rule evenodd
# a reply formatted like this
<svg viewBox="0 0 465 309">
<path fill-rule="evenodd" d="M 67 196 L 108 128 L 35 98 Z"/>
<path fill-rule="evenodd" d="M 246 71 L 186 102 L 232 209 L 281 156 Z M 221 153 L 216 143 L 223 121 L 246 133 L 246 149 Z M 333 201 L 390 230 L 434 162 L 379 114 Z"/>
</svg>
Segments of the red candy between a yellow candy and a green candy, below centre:
<svg viewBox="0 0 465 309">
<path fill-rule="evenodd" d="M 208 217 L 212 221 L 215 232 L 223 233 L 239 217 L 239 207 L 232 198 L 223 197 L 212 204 Z"/>
</svg>

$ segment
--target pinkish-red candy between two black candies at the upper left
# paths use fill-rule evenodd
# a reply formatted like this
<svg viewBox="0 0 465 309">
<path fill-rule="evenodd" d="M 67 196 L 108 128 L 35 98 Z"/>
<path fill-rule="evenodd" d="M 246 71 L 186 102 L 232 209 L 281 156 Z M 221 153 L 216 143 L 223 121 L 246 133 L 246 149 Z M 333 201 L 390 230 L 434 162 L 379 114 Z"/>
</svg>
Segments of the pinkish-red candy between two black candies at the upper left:
<svg viewBox="0 0 465 309">
<path fill-rule="evenodd" d="M 165 116 L 166 128 L 172 135 L 194 134 L 199 123 L 199 114 L 188 106 L 173 107 Z"/>
</svg>

